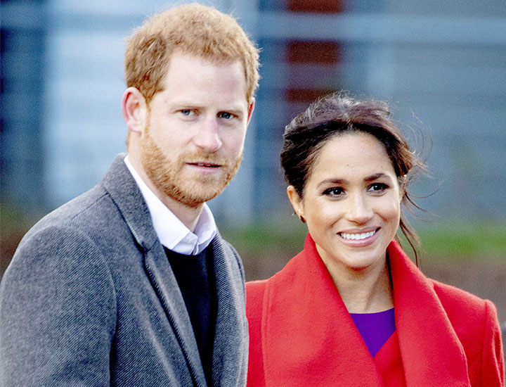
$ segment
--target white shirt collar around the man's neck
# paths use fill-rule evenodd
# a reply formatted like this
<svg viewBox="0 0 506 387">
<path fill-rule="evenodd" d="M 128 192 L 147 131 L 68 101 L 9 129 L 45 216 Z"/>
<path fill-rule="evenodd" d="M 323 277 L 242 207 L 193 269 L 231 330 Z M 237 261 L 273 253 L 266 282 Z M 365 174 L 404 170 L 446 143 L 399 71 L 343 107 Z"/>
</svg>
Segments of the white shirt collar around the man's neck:
<svg viewBox="0 0 506 387">
<path fill-rule="evenodd" d="M 199 254 L 207 248 L 217 232 L 214 217 L 207 204 L 204 203 L 194 234 L 143 182 L 134 165 L 130 163 L 128 156 L 124 158 L 124 163 L 134 177 L 144 201 L 148 205 L 153 227 L 162 245 L 176 253 L 186 255 Z"/>
</svg>

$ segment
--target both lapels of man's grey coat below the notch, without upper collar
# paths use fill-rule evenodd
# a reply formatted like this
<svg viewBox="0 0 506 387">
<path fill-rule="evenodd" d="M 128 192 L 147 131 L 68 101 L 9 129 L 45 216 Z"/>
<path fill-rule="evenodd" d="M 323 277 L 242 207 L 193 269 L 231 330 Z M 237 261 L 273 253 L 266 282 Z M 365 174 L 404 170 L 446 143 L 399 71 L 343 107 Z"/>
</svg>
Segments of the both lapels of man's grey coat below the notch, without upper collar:
<svg viewBox="0 0 506 387">
<path fill-rule="evenodd" d="M 236 264 L 220 234 L 209 246 L 214 256 L 218 311 L 212 353 L 212 385 L 235 386 L 246 375 L 247 332 L 243 284 L 235 276 Z M 145 253 L 145 267 L 162 301 L 167 317 L 178 338 L 196 386 L 206 386 L 204 369 L 181 291 L 162 245 Z"/>
</svg>

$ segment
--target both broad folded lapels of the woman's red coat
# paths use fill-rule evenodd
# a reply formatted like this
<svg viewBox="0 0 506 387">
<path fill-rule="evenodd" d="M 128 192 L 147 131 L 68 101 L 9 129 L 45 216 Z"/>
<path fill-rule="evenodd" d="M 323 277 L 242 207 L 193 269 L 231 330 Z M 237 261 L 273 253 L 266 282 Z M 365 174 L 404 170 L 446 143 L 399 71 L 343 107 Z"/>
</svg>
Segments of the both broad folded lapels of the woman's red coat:
<svg viewBox="0 0 506 387">
<path fill-rule="evenodd" d="M 462 345 L 432 288 L 397 243 L 388 248 L 398 343 L 408 386 L 470 386 Z M 383 386 L 315 243 L 268 281 L 262 326 L 273 386 Z M 283 356 L 279 356 L 283 354 Z"/>
</svg>

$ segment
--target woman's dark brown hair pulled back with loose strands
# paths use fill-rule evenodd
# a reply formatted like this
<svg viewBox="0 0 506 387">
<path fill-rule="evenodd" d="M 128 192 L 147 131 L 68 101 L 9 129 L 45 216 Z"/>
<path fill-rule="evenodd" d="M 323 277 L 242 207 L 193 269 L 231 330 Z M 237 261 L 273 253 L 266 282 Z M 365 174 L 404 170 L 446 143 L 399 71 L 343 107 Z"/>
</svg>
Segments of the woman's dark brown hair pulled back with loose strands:
<svg viewBox="0 0 506 387">
<path fill-rule="evenodd" d="M 364 132 L 374 136 L 387 151 L 403 189 L 401 203 L 418 208 L 408 194 L 408 184 L 415 172 L 425 166 L 389 116 L 389 106 L 382 101 L 358 101 L 341 93 L 318 99 L 285 127 L 281 165 L 287 183 L 302 198 L 316 158 L 327 140 L 344 133 Z M 399 227 L 417 256 L 418 236 L 402 210 Z"/>
</svg>

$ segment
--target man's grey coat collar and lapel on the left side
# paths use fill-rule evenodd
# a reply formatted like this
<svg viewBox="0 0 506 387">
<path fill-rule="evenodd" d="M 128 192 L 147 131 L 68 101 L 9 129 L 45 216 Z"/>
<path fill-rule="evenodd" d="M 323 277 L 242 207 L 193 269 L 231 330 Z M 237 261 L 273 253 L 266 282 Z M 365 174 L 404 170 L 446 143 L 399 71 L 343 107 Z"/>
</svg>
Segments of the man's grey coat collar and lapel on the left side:
<svg viewBox="0 0 506 387">
<path fill-rule="evenodd" d="M 124 157 L 124 154 L 117 156 L 105 172 L 101 184 L 122 212 L 139 249 L 144 254 L 146 272 L 178 338 L 195 384 L 205 386 L 204 369 L 183 296 L 164 248 L 153 229 L 148 206 L 123 161 Z"/>
</svg>

